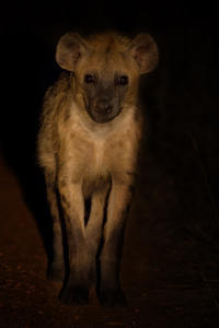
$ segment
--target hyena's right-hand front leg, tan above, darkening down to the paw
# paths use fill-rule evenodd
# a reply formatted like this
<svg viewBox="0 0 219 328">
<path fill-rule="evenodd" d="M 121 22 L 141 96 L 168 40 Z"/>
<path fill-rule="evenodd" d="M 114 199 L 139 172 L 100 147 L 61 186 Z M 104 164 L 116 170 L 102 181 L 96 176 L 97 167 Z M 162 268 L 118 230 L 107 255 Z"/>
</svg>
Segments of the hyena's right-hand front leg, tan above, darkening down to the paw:
<svg viewBox="0 0 219 328">
<path fill-rule="evenodd" d="M 113 180 L 101 254 L 100 301 L 106 306 L 126 305 L 126 296 L 120 289 L 119 266 L 132 190 L 129 183 Z"/>
</svg>

